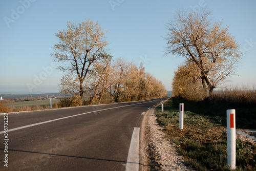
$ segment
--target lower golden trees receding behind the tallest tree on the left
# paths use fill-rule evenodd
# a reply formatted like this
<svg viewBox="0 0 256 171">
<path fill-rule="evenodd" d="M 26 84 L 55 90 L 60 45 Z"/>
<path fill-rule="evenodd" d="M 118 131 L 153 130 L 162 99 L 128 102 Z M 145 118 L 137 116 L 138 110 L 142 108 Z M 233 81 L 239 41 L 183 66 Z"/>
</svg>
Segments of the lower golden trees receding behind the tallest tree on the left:
<svg viewBox="0 0 256 171">
<path fill-rule="evenodd" d="M 61 93 L 77 94 L 79 90 L 77 77 L 62 77 Z M 162 82 L 145 72 L 142 63 L 137 67 L 122 57 L 95 62 L 86 81 L 83 82 L 83 90 L 84 94 L 90 97 L 90 104 L 134 101 L 167 95 Z"/>
</svg>

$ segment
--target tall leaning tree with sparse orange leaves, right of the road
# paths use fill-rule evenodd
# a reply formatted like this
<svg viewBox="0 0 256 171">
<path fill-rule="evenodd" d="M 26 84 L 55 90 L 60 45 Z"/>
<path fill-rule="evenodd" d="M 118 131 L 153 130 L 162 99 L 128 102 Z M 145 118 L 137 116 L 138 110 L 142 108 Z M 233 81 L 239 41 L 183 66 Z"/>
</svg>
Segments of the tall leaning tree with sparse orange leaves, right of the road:
<svg viewBox="0 0 256 171">
<path fill-rule="evenodd" d="M 212 22 L 210 12 L 177 11 L 166 27 L 165 55 L 172 53 L 195 63 L 200 72 L 202 86 L 211 93 L 214 88 L 234 73 L 242 56 L 240 45 L 222 22 Z"/>
</svg>

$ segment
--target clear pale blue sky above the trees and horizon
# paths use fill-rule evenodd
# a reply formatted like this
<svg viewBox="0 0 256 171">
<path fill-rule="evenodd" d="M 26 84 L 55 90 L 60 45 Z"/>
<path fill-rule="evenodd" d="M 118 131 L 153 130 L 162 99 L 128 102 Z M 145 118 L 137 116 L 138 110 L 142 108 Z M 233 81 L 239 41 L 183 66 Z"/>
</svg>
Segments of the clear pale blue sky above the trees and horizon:
<svg viewBox="0 0 256 171">
<path fill-rule="evenodd" d="M 256 1 L 167 1 L 20 0 L 0 2 L 0 93 L 58 92 L 61 73 L 52 65 L 57 30 L 67 22 L 81 23 L 87 18 L 98 22 L 110 43 L 109 52 L 117 57 L 142 61 L 145 70 L 172 90 L 174 71 L 184 58 L 163 56 L 167 30 L 165 24 L 177 9 L 195 10 L 207 6 L 213 20 L 222 20 L 245 51 L 238 76 L 226 85 L 256 83 Z M 29 85 L 29 87 L 28 87 Z"/>
</svg>

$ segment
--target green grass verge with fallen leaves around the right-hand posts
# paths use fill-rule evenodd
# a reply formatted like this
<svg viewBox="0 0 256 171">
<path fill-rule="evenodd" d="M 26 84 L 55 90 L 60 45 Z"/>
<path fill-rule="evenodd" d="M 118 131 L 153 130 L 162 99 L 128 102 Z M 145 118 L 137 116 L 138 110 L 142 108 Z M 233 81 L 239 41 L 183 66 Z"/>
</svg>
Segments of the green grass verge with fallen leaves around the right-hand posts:
<svg viewBox="0 0 256 171">
<path fill-rule="evenodd" d="M 184 109 L 184 129 L 179 130 L 177 98 L 170 98 L 156 109 L 159 125 L 164 126 L 167 138 L 176 144 L 185 162 L 198 170 L 229 170 L 227 167 L 226 127 L 219 116 L 209 116 Z M 188 102 L 184 105 L 187 106 Z M 225 113 L 225 111 L 224 111 Z M 237 170 L 256 170 L 256 148 L 237 139 Z"/>
</svg>

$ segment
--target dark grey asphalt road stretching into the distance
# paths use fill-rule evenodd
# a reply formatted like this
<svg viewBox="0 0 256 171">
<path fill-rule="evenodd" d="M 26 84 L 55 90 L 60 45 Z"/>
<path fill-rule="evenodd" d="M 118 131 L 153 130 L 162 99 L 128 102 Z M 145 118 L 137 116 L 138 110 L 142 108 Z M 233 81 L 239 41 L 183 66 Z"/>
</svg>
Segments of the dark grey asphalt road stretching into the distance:
<svg viewBox="0 0 256 171">
<path fill-rule="evenodd" d="M 1 114 L 0 170 L 129 170 L 128 164 L 136 168 L 138 162 L 127 162 L 136 158 L 131 151 L 138 143 L 132 139 L 134 131 L 139 131 L 143 112 L 165 99 L 10 113 L 7 137 L 7 119 Z"/>
</svg>

